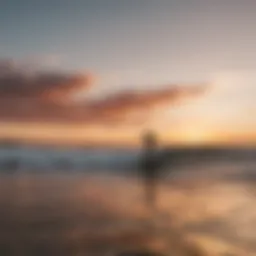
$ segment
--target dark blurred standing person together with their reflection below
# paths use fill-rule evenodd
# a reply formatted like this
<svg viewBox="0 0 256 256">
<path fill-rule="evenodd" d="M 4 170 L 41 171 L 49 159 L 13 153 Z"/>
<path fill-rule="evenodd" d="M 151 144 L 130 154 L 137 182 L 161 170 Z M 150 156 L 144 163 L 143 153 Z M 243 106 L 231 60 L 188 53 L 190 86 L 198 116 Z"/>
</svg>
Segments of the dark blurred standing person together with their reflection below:
<svg viewBox="0 0 256 256">
<path fill-rule="evenodd" d="M 142 136 L 140 169 L 144 183 L 145 204 L 150 213 L 156 210 L 160 164 L 157 136 L 154 132 L 147 131 Z"/>
</svg>

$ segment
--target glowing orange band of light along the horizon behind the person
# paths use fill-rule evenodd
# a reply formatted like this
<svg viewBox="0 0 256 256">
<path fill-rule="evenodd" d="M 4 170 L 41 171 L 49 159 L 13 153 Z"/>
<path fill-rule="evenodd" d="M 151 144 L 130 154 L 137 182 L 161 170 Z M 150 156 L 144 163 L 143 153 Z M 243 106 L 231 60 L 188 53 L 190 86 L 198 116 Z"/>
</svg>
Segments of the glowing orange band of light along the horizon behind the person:
<svg viewBox="0 0 256 256">
<path fill-rule="evenodd" d="M 210 127 L 176 127 L 172 132 L 158 131 L 163 145 L 256 145 L 256 133 L 224 131 Z M 173 128 L 172 128 L 173 129 Z M 0 138 L 45 143 L 105 144 L 139 146 L 141 132 L 77 125 L 1 123 Z"/>
</svg>

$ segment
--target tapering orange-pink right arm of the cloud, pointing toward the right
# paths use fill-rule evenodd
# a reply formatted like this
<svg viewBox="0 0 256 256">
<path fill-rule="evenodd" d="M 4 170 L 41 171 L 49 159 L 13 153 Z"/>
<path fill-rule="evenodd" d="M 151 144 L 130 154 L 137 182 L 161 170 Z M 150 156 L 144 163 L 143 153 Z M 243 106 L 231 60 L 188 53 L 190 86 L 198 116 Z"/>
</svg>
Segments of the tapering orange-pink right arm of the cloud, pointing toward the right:
<svg viewBox="0 0 256 256">
<path fill-rule="evenodd" d="M 87 109 L 93 113 L 93 116 L 124 122 L 130 120 L 130 117 L 143 118 L 153 108 L 173 105 L 185 98 L 195 97 L 203 91 L 204 87 L 202 86 L 179 87 L 168 85 L 166 89 L 162 90 L 121 92 L 91 102 L 87 105 Z M 143 115 L 140 115 L 140 113 L 143 113 Z"/>
</svg>

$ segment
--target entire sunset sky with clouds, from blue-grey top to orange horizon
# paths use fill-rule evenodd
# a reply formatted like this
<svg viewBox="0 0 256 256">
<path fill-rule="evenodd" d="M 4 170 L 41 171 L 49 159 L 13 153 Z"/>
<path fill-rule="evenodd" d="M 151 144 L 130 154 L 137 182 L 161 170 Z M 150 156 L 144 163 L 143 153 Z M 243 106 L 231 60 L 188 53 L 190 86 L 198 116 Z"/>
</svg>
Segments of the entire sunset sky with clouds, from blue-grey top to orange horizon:
<svg viewBox="0 0 256 256">
<path fill-rule="evenodd" d="M 3 0 L 0 136 L 127 141 L 149 127 L 170 142 L 255 143 L 255 11 L 254 0 Z"/>
</svg>

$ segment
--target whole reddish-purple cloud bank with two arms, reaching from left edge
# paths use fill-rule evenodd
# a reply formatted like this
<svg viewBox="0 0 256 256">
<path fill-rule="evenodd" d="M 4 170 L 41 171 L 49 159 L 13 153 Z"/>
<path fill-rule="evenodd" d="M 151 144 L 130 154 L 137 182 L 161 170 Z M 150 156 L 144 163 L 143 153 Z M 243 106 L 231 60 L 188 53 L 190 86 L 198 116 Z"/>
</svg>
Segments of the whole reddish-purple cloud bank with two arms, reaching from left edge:
<svg viewBox="0 0 256 256">
<path fill-rule="evenodd" d="M 0 118 L 84 124 L 135 124 L 154 108 L 195 97 L 205 87 L 167 85 L 151 91 L 124 91 L 98 100 L 76 102 L 95 76 L 86 73 L 32 71 L 13 60 L 0 61 Z"/>
</svg>

